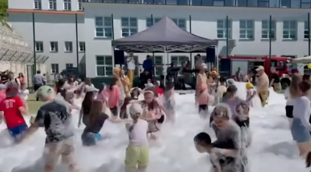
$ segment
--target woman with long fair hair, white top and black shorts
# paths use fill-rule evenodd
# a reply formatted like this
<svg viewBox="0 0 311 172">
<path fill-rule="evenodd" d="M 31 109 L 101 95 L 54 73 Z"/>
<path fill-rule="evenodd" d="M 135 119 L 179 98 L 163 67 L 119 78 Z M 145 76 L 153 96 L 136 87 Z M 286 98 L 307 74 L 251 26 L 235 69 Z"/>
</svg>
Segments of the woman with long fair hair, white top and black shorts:
<svg viewBox="0 0 311 172">
<path fill-rule="evenodd" d="M 293 123 L 293 108 L 295 103 L 295 98 L 298 97 L 298 84 L 302 81 L 299 74 L 293 74 L 291 77 L 290 86 L 287 87 L 284 91 L 284 97 L 286 100 L 286 117 L 290 123 L 290 127 Z"/>
</svg>

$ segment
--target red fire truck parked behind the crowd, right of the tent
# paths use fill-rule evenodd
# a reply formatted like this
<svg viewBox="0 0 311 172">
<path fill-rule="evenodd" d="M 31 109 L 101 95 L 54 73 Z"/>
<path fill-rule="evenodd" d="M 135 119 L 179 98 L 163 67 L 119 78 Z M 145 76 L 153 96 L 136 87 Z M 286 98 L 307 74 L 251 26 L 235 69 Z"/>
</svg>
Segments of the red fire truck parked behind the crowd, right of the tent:
<svg viewBox="0 0 311 172">
<path fill-rule="evenodd" d="M 271 66 L 269 65 L 271 60 Z M 254 72 L 258 66 L 263 66 L 265 72 L 269 75 L 270 67 L 275 67 L 278 71 L 282 87 L 290 85 L 290 75 L 292 70 L 292 58 L 290 57 L 248 57 L 248 56 L 220 56 L 219 57 L 219 73 L 226 78 L 234 78 L 235 73 L 240 67 L 244 74 Z"/>
</svg>

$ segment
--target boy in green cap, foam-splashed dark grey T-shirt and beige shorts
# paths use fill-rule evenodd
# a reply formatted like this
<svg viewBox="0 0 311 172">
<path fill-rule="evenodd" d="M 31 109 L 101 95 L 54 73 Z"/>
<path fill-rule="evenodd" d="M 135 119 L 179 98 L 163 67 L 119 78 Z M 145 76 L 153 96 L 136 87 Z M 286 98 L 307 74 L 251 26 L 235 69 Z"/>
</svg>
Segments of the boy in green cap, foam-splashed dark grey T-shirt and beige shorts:
<svg viewBox="0 0 311 172">
<path fill-rule="evenodd" d="M 39 127 L 45 128 L 45 172 L 53 172 L 58 159 L 62 156 L 71 172 L 79 171 L 74 161 L 73 126 L 69 115 L 69 103 L 55 99 L 55 91 L 49 86 L 41 86 L 36 95 L 45 104 L 38 110 L 34 123 L 21 136 L 19 142 L 35 133 Z"/>
</svg>

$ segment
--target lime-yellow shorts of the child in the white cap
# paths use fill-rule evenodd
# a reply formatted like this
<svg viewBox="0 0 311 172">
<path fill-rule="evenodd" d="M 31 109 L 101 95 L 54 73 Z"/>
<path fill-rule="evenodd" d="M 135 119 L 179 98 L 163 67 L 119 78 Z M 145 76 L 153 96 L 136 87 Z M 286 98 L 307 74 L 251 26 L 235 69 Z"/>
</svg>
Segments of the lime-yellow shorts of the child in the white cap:
<svg viewBox="0 0 311 172">
<path fill-rule="evenodd" d="M 149 148 L 146 146 L 128 145 L 125 153 L 125 166 L 128 168 L 146 167 L 149 163 Z"/>
</svg>

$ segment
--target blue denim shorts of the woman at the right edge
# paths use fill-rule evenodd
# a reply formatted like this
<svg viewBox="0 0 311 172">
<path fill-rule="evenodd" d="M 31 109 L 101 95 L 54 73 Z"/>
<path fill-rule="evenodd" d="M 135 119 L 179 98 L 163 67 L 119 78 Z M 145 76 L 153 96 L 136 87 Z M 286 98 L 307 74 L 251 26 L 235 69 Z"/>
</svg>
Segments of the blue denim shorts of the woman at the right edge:
<svg viewBox="0 0 311 172">
<path fill-rule="evenodd" d="M 304 127 L 300 119 L 293 118 L 290 132 L 293 139 L 298 143 L 308 142 L 311 140 L 309 129 Z"/>
</svg>

